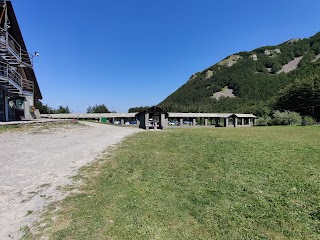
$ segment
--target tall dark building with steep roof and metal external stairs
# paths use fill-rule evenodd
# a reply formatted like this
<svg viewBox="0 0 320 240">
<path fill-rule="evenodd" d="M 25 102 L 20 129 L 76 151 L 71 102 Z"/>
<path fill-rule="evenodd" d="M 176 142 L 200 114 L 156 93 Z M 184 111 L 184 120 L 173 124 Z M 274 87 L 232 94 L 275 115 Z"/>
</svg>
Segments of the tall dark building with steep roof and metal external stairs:
<svg viewBox="0 0 320 240">
<path fill-rule="evenodd" d="M 11 1 L 0 0 L 0 122 L 35 118 L 42 99 Z"/>
</svg>

